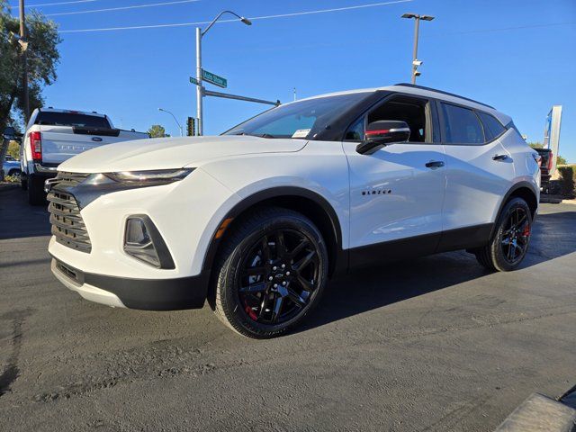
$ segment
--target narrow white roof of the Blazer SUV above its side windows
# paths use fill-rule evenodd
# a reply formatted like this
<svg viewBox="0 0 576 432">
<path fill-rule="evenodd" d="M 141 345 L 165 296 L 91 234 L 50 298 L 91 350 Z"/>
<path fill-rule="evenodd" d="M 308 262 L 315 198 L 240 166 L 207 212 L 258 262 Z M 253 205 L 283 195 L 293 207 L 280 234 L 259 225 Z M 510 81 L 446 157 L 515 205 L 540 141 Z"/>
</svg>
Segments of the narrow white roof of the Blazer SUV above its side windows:
<svg viewBox="0 0 576 432">
<path fill-rule="evenodd" d="M 494 108 L 493 106 L 488 105 L 486 103 L 474 101 L 473 99 L 469 99 L 467 97 L 460 96 L 458 94 L 447 93 L 447 92 L 444 92 L 442 90 L 437 90 L 435 88 L 425 87 L 425 86 L 421 86 L 421 85 L 405 84 L 405 83 L 395 84 L 395 85 L 386 85 L 383 87 L 347 90 L 347 91 L 343 91 L 343 92 L 335 92 L 335 93 L 329 93 L 329 94 L 320 94 L 318 96 L 312 96 L 312 97 L 309 97 L 306 99 L 316 99 L 316 98 L 320 98 L 320 97 L 337 96 L 340 94 L 373 93 L 373 92 L 377 92 L 377 91 L 398 92 L 398 93 L 403 93 L 403 94 L 414 94 L 414 95 L 419 95 L 419 96 L 432 97 L 432 98 L 440 99 L 440 100 L 446 101 L 446 102 L 462 104 L 462 105 L 468 106 L 470 108 L 473 108 L 473 109 L 476 109 L 479 111 L 489 112 L 504 125 L 509 124 L 509 122 L 512 121 L 512 119 L 508 115 L 504 114 L 503 112 L 498 111 L 496 108 Z M 300 100 L 302 101 L 304 99 L 300 99 Z"/>
</svg>

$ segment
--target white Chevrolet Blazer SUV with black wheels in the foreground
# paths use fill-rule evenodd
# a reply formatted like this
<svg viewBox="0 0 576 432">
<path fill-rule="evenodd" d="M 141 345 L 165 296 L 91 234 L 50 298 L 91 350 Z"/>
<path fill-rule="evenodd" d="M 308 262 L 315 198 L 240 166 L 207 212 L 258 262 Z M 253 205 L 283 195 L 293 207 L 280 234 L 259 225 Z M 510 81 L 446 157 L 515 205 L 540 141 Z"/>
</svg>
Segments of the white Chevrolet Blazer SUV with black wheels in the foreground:
<svg viewBox="0 0 576 432">
<path fill-rule="evenodd" d="M 467 249 L 526 256 L 537 154 L 509 116 L 416 85 L 286 103 L 217 137 L 117 143 L 48 184 L 52 271 L 85 299 L 206 300 L 242 335 L 293 328 L 350 267 Z"/>
</svg>

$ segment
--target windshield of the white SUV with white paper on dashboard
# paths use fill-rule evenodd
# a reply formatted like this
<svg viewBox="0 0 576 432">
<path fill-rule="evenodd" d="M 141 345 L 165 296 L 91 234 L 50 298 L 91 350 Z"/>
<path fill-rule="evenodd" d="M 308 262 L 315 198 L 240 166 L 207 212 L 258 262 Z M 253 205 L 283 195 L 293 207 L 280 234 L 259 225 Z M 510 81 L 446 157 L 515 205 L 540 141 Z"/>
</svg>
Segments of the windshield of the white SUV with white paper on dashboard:
<svg viewBox="0 0 576 432">
<path fill-rule="evenodd" d="M 224 135 L 313 139 L 369 93 L 338 94 L 280 105 L 238 124 Z"/>
</svg>

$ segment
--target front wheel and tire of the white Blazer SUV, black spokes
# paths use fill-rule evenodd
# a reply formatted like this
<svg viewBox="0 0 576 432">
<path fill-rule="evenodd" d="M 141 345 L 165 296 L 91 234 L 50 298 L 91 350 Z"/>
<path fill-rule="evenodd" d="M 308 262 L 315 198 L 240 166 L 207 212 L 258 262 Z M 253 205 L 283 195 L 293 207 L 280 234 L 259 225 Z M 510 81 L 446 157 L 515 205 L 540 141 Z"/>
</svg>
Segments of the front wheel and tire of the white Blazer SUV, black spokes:
<svg viewBox="0 0 576 432">
<path fill-rule="evenodd" d="M 320 230 L 281 208 L 237 220 L 217 263 L 215 312 L 249 338 L 274 338 L 302 322 L 320 301 L 328 276 Z"/>
</svg>

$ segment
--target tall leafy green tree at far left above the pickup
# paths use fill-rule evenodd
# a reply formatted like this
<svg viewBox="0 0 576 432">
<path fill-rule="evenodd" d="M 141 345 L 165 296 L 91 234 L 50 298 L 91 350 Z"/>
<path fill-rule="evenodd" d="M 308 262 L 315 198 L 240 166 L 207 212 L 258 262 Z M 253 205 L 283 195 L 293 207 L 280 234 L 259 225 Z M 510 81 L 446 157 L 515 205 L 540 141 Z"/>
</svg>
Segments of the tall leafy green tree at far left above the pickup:
<svg viewBox="0 0 576 432">
<path fill-rule="evenodd" d="M 7 123 L 23 119 L 23 61 L 22 47 L 10 37 L 10 32 L 18 34 L 20 22 L 11 14 L 5 0 L 0 0 L 0 130 Z M 57 25 L 47 20 L 37 11 L 26 15 L 28 49 L 28 93 L 31 111 L 44 102 L 42 87 L 56 80 L 58 53 Z"/>
</svg>

